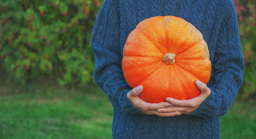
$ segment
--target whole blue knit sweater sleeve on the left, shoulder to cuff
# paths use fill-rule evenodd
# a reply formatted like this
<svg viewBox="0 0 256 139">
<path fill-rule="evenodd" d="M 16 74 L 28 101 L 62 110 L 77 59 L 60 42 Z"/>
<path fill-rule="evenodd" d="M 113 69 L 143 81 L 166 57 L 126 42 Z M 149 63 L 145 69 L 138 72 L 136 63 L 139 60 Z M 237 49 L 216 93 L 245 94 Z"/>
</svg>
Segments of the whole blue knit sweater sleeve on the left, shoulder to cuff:
<svg viewBox="0 0 256 139">
<path fill-rule="evenodd" d="M 127 115 L 143 114 L 127 98 L 131 87 L 124 79 L 120 48 L 118 0 L 105 0 L 98 13 L 91 38 L 95 54 L 94 80 L 116 110 Z"/>
</svg>

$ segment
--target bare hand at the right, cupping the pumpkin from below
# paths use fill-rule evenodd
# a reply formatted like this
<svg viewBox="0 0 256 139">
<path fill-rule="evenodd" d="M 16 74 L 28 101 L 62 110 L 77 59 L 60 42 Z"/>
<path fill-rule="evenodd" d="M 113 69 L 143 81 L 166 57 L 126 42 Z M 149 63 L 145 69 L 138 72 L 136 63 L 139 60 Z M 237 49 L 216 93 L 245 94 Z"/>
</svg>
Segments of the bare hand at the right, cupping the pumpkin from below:
<svg viewBox="0 0 256 139">
<path fill-rule="evenodd" d="M 171 97 L 167 97 L 165 100 L 172 104 L 172 107 L 158 109 L 158 112 L 162 113 L 177 113 L 180 112 L 179 115 L 182 114 L 190 114 L 194 110 L 196 110 L 199 105 L 211 94 L 211 90 L 201 81 L 196 81 L 197 88 L 201 91 L 199 96 L 189 99 L 189 100 L 176 100 Z"/>
</svg>

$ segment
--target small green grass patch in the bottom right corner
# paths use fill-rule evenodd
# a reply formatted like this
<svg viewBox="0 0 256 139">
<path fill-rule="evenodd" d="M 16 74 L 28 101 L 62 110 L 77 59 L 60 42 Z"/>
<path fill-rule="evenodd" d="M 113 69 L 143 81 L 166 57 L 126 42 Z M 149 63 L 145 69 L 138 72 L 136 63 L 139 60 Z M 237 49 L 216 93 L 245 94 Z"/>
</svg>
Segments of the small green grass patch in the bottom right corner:
<svg viewBox="0 0 256 139">
<path fill-rule="evenodd" d="M 256 101 L 235 99 L 221 118 L 221 139 L 256 139 Z"/>
</svg>

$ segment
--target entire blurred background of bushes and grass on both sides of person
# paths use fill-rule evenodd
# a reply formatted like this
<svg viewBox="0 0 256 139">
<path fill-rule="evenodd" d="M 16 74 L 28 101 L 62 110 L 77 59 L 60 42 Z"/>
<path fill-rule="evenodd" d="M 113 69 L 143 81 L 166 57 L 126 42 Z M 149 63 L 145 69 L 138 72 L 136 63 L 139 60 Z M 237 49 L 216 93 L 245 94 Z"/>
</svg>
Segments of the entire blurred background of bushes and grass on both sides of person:
<svg viewBox="0 0 256 139">
<path fill-rule="evenodd" d="M 244 84 L 221 137 L 256 136 L 256 1 L 233 0 Z M 0 0 L 0 139 L 109 139 L 113 108 L 93 79 L 103 0 Z"/>
</svg>

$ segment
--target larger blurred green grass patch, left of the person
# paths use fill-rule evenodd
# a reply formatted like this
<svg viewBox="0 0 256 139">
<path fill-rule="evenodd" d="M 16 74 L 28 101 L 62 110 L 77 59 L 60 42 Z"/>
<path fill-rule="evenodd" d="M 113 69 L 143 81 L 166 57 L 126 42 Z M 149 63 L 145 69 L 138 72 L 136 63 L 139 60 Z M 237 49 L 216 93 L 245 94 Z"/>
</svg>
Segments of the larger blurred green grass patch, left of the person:
<svg viewBox="0 0 256 139">
<path fill-rule="evenodd" d="M 113 108 L 97 87 L 41 88 L 8 95 L 0 87 L 0 139 L 112 138 Z"/>
</svg>

